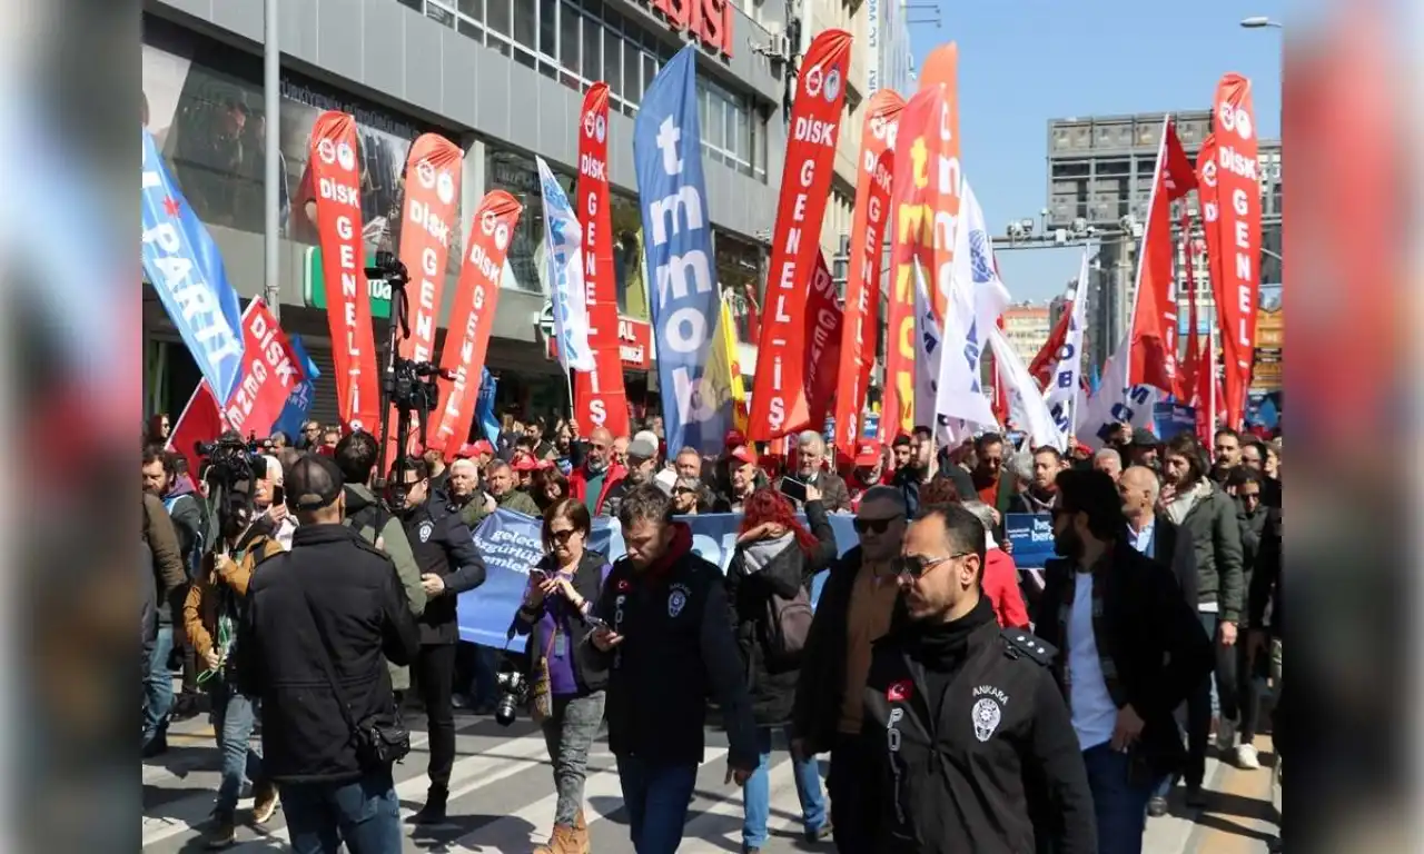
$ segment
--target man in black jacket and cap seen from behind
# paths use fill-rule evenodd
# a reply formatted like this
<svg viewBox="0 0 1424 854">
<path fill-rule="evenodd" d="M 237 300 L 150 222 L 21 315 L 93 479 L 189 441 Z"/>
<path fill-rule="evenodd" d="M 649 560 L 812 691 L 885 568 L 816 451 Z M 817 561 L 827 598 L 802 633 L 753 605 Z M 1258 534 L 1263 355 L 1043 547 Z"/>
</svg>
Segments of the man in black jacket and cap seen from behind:
<svg viewBox="0 0 1424 854">
<path fill-rule="evenodd" d="M 292 551 L 253 571 L 232 652 L 244 693 L 262 700 L 263 770 L 293 850 L 336 851 L 340 834 L 353 853 L 399 851 L 390 763 L 359 753 L 352 724 L 394 722 L 386 659 L 410 663 L 420 631 L 390 558 L 342 524 L 335 463 L 303 457 L 286 501 L 300 522 Z"/>
</svg>

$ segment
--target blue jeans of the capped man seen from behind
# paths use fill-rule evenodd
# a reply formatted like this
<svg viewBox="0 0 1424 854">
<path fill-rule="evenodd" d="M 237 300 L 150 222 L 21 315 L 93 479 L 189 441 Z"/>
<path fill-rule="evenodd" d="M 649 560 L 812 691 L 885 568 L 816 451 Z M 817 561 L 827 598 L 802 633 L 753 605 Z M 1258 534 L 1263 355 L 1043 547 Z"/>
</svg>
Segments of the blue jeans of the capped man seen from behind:
<svg viewBox="0 0 1424 854">
<path fill-rule="evenodd" d="M 400 801 L 390 769 L 352 783 L 281 783 L 296 854 L 400 854 Z"/>
</svg>

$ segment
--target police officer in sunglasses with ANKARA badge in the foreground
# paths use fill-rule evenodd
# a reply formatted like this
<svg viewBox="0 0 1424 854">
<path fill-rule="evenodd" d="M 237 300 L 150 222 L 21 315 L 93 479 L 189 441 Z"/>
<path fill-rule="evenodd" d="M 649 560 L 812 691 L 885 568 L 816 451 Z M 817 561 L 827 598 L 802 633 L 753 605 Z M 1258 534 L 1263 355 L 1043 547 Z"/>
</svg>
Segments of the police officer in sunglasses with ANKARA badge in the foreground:
<svg viewBox="0 0 1424 854">
<path fill-rule="evenodd" d="M 1055 650 L 998 628 L 984 551 L 984 525 L 958 505 L 924 507 L 906 531 L 903 605 L 864 693 L 874 854 L 1096 851 Z"/>
</svg>

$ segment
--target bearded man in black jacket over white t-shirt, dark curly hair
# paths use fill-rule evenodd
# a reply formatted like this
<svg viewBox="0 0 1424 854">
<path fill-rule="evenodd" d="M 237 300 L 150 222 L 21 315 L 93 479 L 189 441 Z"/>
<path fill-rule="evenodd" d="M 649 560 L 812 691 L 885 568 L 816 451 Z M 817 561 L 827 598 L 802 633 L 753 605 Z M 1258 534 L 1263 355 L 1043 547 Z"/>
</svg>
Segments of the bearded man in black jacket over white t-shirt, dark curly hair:
<svg viewBox="0 0 1424 854">
<path fill-rule="evenodd" d="M 1064 471 L 1057 483 L 1064 558 L 1044 568 L 1034 631 L 1062 650 L 1052 673 L 1088 769 L 1099 851 L 1136 854 L 1156 783 L 1185 764 L 1172 713 L 1210 675 L 1212 643 L 1171 571 L 1126 539 L 1112 478 Z"/>
</svg>

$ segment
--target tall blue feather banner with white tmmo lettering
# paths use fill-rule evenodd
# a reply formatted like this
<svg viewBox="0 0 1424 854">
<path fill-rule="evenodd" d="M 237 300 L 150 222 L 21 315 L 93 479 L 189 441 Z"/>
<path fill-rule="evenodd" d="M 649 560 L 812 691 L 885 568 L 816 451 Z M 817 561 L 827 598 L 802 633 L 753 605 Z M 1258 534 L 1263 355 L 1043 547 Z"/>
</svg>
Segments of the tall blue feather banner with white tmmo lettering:
<svg viewBox="0 0 1424 854">
<path fill-rule="evenodd" d="M 668 447 L 719 454 L 732 403 L 715 400 L 711 383 L 702 393 L 721 299 L 702 179 L 696 56 L 688 44 L 652 78 L 634 121 L 632 152 Z"/>
</svg>

